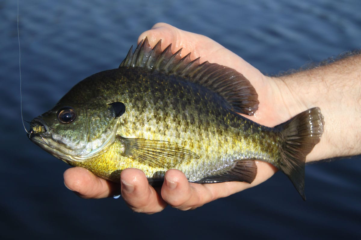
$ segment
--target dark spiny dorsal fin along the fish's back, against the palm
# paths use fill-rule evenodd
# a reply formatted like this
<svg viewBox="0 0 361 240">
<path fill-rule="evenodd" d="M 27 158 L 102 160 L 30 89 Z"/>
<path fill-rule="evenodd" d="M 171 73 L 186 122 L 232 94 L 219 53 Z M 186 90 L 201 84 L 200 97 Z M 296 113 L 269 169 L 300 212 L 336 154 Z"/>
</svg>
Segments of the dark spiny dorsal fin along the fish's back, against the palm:
<svg viewBox="0 0 361 240">
<path fill-rule="evenodd" d="M 229 104 L 230 110 L 253 115 L 258 109 L 258 95 L 251 83 L 236 70 L 209 63 L 200 64 L 199 58 L 191 60 L 190 54 L 181 57 L 182 49 L 172 54 L 171 44 L 161 50 L 161 41 L 151 48 L 148 39 L 142 40 L 134 53 L 130 48 L 121 67 L 142 67 L 168 74 L 181 76 L 193 83 L 207 87 L 221 95 Z"/>
</svg>

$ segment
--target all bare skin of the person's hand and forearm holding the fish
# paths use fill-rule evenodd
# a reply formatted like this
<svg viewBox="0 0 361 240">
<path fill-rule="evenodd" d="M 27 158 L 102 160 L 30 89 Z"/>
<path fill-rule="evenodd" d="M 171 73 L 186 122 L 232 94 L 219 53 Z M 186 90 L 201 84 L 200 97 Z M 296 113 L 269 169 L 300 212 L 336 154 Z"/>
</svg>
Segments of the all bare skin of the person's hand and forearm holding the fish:
<svg viewBox="0 0 361 240">
<path fill-rule="evenodd" d="M 260 101 L 252 121 L 273 127 L 312 107 L 321 108 L 325 126 L 321 141 L 307 155 L 306 162 L 361 154 L 361 56 L 353 55 L 321 67 L 281 77 L 268 77 L 245 62 L 238 55 L 217 42 L 169 24 L 157 23 L 139 36 L 148 37 L 153 47 L 161 39 L 162 50 L 172 44 L 173 52 L 180 48 L 182 56 L 200 57 L 234 68 L 255 87 Z M 217 184 L 189 183 L 176 169 L 166 172 L 161 188 L 148 184 L 139 169 L 125 169 L 121 185 L 95 176 L 85 168 L 69 168 L 64 172 L 64 184 L 82 198 L 106 198 L 121 193 L 135 212 L 156 213 L 167 205 L 194 209 L 239 191 L 254 187 L 271 177 L 277 169 L 269 163 L 257 161 L 257 176 L 251 183 L 223 182 Z"/>
</svg>

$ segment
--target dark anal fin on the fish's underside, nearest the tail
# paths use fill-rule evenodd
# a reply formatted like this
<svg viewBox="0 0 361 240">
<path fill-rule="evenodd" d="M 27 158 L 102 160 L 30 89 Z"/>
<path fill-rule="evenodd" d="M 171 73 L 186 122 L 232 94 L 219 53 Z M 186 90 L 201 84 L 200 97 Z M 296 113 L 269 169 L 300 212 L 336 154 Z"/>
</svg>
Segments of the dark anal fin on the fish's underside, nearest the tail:
<svg viewBox="0 0 361 240">
<path fill-rule="evenodd" d="M 197 181 L 197 183 L 206 184 L 230 181 L 251 183 L 253 180 L 255 180 L 256 175 L 257 165 L 255 160 L 240 160 L 235 161 L 232 166 L 224 169 L 223 172 L 217 175 L 202 178 L 201 180 Z"/>
</svg>

